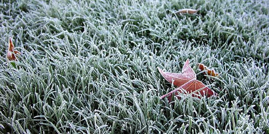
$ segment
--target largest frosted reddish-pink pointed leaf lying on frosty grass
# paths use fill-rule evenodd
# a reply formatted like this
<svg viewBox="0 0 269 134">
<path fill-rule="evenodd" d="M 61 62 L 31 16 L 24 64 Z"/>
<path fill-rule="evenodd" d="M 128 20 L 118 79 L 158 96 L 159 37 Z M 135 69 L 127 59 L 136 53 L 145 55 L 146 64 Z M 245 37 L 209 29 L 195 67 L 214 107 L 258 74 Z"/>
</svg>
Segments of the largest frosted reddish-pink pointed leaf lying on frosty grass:
<svg viewBox="0 0 269 134">
<path fill-rule="evenodd" d="M 201 81 L 196 79 L 196 74 L 189 65 L 189 59 L 185 62 L 182 73 L 170 73 L 170 72 L 164 72 L 158 67 L 159 72 L 161 75 L 167 80 L 168 82 L 172 83 L 176 86 L 179 86 L 172 92 L 169 92 L 160 98 L 164 98 L 168 96 L 168 100 L 171 101 L 173 93 L 175 95 L 178 95 L 178 92 L 182 93 L 182 89 L 184 89 L 187 92 L 184 92 L 186 94 L 195 93 L 192 94 L 193 97 L 200 96 L 197 95 L 199 92 L 202 96 L 210 97 L 212 95 L 217 95 L 214 93 L 211 89 L 209 89 L 205 84 L 203 84 Z M 178 97 L 179 98 L 179 97 Z M 180 99 L 180 98 L 179 98 Z"/>
</svg>

